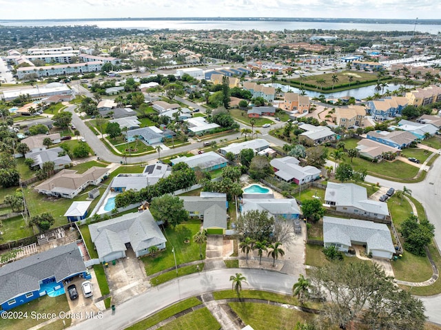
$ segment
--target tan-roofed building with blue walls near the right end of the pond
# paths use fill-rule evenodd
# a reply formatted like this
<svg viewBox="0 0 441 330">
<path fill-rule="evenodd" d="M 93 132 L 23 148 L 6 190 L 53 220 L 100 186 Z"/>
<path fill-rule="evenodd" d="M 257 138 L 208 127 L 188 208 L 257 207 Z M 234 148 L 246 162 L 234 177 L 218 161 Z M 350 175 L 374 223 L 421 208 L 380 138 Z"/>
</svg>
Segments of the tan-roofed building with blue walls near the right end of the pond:
<svg viewBox="0 0 441 330">
<path fill-rule="evenodd" d="M 388 96 L 384 99 L 367 102 L 367 110 L 375 121 L 387 121 L 401 116 L 402 110 L 408 104 L 404 96 Z"/>
</svg>

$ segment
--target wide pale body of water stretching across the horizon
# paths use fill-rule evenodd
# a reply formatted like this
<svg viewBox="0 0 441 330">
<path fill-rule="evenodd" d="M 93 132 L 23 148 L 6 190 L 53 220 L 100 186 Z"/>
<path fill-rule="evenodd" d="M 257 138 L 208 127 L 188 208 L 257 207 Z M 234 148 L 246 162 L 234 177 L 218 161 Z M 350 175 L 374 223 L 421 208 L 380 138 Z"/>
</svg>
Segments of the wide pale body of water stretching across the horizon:
<svg viewBox="0 0 441 330">
<path fill-rule="evenodd" d="M 283 30 L 358 30 L 358 31 L 412 31 L 413 24 L 398 23 L 339 23 L 339 22 L 287 22 L 287 21 L 114 21 L 114 20 L 88 20 L 88 21 L 19 21 L 3 20 L 0 25 L 8 26 L 61 26 L 61 25 L 96 25 L 99 28 L 123 28 L 139 30 L 259 30 L 259 31 L 283 31 Z M 417 32 L 438 34 L 441 25 L 421 24 L 416 25 Z"/>
</svg>

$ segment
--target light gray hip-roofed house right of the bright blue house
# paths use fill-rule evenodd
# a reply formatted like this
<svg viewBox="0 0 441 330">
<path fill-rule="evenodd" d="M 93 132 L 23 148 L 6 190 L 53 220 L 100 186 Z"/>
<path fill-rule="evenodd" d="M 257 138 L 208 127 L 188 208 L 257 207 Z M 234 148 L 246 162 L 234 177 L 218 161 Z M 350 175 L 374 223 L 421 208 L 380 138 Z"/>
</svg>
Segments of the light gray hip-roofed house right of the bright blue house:
<svg viewBox="0 0 441 330">
<path fill-rule="evenodd" d="M 127 246 L 138 258 L 150 254 L 151 247 L 165 249 L 167 242 L 149 209 L 93 223 L 89 230 L 100 262 L 125 258 Z"/>
</svg>

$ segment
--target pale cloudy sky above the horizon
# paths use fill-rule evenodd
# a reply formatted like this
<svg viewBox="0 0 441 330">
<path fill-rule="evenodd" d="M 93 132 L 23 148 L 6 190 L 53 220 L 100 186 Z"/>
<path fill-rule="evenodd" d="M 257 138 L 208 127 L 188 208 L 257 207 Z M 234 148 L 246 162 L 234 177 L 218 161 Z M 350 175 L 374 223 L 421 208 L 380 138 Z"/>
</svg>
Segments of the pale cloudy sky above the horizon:
<svg viewBox="0 0 441 330">
<path fill-rule="evenodd" d="M 1 19 L 328 17 L 440 19 L 439 0 L 0 0 Z"/>
</svg>

